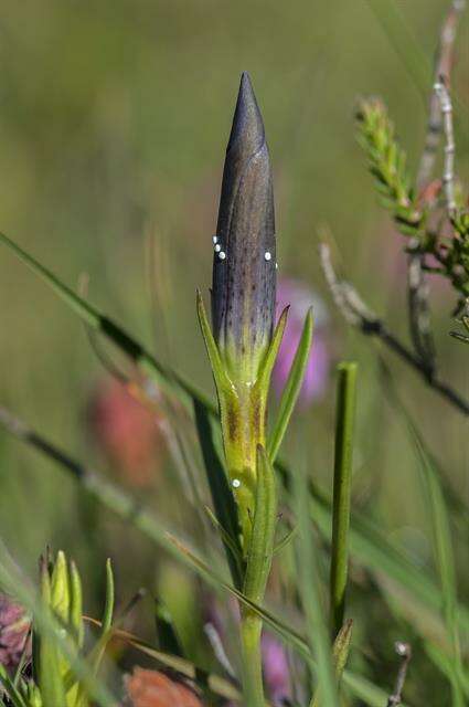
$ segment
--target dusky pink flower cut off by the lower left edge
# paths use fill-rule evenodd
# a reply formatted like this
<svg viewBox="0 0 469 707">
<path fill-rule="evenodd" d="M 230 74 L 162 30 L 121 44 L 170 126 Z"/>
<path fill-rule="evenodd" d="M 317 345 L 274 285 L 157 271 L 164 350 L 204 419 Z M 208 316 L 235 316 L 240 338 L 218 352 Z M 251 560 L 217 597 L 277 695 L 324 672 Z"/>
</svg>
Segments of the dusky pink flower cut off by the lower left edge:
<svg viewBox="0 0 469 707">
<path fill-rule="evenodd" d="M 6 594 L 0 594 L 0 664 L 14 668 L 23 652 L 31 655 L 29 637 L 31 622 L 22 606 Z"/>
</svg>

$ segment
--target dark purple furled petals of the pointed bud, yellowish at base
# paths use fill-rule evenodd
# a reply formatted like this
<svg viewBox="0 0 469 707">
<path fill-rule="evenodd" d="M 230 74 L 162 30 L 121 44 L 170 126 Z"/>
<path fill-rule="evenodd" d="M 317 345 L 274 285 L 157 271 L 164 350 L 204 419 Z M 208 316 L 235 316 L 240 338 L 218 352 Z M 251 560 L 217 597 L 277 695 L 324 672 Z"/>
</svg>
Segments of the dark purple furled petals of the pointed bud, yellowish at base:
<svg viewBox="0 0 469 707">
<path fill-rule="evenodd" d="M 251 382 L 273 334 L 276 247 L 269 154 L 247 73 L 226 149 L 214 250 L 213 334 L 231 373 Z"/>
</svg>

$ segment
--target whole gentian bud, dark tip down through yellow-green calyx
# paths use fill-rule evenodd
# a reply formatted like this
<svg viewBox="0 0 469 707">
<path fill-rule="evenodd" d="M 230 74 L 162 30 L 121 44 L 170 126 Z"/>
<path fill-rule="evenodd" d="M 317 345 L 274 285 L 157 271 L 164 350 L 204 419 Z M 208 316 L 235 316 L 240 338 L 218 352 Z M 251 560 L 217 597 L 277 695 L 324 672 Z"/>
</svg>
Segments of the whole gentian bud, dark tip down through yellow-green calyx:
<svg viewBox="0 0 469 707">
<path fill-rule="evenodd" d="M 258 450 L 266 446 L 270 373 L 287 309 L 274 330 L 276 252 L 271 170 L 264 124 L 246 73 L 226 149 L 213 236 L 211 329 L 198 309 L 218 395 L 226 466 L 247 556 L 256 507 Z"/>
</svg>

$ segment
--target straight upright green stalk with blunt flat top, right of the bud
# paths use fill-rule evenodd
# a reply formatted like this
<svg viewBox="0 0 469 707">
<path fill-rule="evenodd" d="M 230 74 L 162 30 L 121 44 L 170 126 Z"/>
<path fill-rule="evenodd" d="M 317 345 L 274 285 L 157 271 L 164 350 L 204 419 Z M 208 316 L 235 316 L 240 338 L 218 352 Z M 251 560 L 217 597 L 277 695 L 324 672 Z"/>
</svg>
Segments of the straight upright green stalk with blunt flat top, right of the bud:
<svg viewBox="0 0 469 707">
<path fill-rule="evenodd" d="M 342 627 L 345 610 L 356 363 L 341 363 L 338 370 L 330 573 L 330 610 L 334 636 Z"/>
</svg>

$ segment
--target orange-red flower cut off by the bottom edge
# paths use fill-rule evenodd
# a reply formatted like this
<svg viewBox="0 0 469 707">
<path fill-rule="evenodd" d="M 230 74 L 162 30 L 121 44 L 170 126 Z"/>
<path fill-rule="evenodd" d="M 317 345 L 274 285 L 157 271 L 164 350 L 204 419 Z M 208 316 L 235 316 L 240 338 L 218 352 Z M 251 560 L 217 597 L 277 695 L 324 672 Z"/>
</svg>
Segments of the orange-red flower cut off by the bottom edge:
<svg viewBox="0 0 469 707">
<path fill-rule="evenodd" d="M 189 687 L 158 671 L 134 668 L 126 687 L 132 707 L 203 707 Z"/>
</svg>

